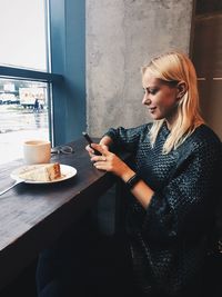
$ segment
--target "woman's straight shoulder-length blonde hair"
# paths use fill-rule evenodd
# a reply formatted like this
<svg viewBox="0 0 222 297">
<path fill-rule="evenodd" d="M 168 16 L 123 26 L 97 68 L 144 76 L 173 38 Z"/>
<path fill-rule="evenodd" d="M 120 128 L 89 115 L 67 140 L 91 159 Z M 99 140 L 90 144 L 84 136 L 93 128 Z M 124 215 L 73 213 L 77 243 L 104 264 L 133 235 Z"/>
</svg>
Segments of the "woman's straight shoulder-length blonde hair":
<svg viewBox="0 0 222 297">
<path fill-rule="evenodd" d="M 163 82 L 185 82 L 186 91 L 179 101 L 178 118 L 172 126 L 163 146 L 163 154 L 178 148 L 193 131 L 204 122 L 200 115 L 199 92 L 195 69 L 191 60 L 183 53 L 172 51 L 159 56 L 142 68 L 142 75 L 149 71 Z M 151 143 L 154 145 L 164 119 L 155 120 L 150 130 Z"/>
</svg>

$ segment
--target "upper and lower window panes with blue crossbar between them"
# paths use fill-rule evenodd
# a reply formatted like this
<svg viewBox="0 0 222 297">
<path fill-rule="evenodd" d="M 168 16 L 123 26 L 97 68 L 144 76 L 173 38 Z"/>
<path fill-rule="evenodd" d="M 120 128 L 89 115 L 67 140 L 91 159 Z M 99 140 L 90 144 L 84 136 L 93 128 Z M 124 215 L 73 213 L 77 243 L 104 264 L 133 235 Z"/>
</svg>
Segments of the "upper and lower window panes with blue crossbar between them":
<svg viewBox="0 0 222 297">
<path fill-rule="evenodd" d="M 0 164 L 21 158 L 27 139 L 53 142 L 48 7 L 46 0 L 1 0 Z"/>
</svg>

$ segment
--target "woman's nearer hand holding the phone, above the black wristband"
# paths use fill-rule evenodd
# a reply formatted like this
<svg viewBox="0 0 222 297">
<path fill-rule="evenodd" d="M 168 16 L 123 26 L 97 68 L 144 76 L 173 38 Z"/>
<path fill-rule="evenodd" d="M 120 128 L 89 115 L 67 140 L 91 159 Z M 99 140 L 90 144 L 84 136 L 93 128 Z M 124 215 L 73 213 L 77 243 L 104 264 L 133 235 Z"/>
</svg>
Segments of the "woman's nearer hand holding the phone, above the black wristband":
<svg viewBox="0 0 222 297">
<path fill-rule="evenodd" d="M 109 151 L 107 146 L 97 143 L 92 143 L 91 146 L 93 149 L 97 149 L 102 154 L 101 156 L 93 156 L 91 158 L 91 161 L 94 162 L 97 169 L 112 172 L 115 176 L 122 178 L 123 180 L 129 176 L 129 174 L 132 175 L 133 171 L 131 170 L 131 168 L 125 162 L 123 162 L 117 155 Z"/>
</svg>

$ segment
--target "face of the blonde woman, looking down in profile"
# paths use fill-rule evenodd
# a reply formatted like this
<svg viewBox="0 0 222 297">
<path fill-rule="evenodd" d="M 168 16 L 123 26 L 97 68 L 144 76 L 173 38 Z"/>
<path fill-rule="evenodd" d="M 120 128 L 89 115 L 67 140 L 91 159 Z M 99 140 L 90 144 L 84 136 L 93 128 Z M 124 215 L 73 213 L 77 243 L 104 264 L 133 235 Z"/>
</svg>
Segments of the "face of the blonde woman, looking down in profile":
<svg viewBox="0 0 222 297">
<path fill-rule="evenodd" d="M 170 128 L 178 115 L 179 90 L 176 86 L 170 86 L 154 78 L 148 71 L 142 78 L 144 97 L 142 103 L 148 107 L 150 116 L 154 120 L 165 119 Z"/>
</svg>

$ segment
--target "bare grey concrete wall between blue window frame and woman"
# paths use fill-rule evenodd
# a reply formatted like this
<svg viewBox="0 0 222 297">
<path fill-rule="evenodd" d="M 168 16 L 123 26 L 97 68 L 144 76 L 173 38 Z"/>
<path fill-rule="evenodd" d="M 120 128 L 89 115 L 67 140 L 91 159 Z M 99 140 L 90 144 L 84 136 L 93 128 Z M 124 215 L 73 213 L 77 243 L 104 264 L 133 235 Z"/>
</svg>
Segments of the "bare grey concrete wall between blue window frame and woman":
<svg viewBox="0 0 222 297">
<path fill-rule="evenodd" d="M 87 0 L 87 123 L 109 127 L 150 121 L 141 105 L 140 68 L 151 57 L 189 52 L 193 0 Z"/>
</svg>

